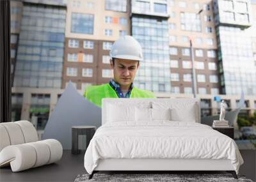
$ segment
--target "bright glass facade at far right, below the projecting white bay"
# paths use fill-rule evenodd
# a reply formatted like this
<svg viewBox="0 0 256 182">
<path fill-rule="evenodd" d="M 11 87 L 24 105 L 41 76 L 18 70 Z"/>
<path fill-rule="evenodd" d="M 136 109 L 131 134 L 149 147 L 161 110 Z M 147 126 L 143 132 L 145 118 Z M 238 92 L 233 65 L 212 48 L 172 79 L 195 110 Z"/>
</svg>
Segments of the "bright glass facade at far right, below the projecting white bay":
<svg viewBox="0 0 256 182">
<path fill-rule="evenodd" d="M 218 27 L 221 92 L 256 95 L 256 72 L 250 34 L 239 27 Z"/>
</svg>

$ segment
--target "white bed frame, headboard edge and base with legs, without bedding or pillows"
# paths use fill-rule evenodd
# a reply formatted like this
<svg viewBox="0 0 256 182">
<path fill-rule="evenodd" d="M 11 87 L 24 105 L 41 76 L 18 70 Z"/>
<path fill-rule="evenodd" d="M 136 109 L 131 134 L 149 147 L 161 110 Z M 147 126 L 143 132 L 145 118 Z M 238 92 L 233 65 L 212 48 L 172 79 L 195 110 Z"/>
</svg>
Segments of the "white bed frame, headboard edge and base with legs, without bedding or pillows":
<svg viewBox="0 0 256 182">
<path fill-rule="evenodd" d="M 143 99 L 143 101 L 152 101 L 154 99 Z M 159 99 L 157 99 L 159 100 Z M 169 102 L 195 102 L 197 105 L 197 114 L 195 114 L 196 123 L 200 123 L 200 98 L 163 98 L 163 101 Z M 179 101 L 178 101 L 179 100 Z M 116 103 L 116 99 L 108 98 L 102 100 L 102 124 L 106 121 L 106 107 L 108 103 Z M 141 99 L 132 99 L 132 103 L 140 102 Z M 131 99 L 118 98 L 118 102 L 131 102 Z M 108 158 L 100 159 L 97 167 L 95 167 L 89 179 L 92 179 L 93 174 L 97 172 L 149 172 L 149 173 L 170 173 L 173 171 L 182 171 L 184 173 L 188 171 L 226 171 L 231 173 L 232 176 L 237 179 L 236 171 L 231 164 L 230 160 L 214 160 L 214 159 L 163 159 L 163 158 Z"/>
</svg>

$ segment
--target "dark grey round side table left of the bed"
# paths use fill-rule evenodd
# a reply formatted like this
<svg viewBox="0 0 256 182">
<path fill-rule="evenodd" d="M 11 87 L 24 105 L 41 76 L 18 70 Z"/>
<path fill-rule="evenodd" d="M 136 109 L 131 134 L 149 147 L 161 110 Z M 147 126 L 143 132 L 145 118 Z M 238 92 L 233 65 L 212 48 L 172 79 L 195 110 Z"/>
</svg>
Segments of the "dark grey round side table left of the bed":
<svg viewBox="0 0 256 182">
<path fill-rule="evenodd" d="M 72 154 L 79 154 L 81 150 L 78 149 L 78 136 L 86 135 L 86 148 L 96 131 L 96 126 L 72 126 Z"/>
</svg>

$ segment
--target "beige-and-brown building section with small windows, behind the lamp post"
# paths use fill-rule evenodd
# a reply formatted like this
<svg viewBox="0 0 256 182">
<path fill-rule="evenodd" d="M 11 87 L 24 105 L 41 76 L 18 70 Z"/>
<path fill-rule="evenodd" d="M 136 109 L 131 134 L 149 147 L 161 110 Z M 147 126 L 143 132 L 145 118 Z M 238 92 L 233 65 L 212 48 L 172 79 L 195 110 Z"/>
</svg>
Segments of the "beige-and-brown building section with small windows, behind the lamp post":
<svg viewBox="0 0 256 182">
<path fill-rule="evenodd" d="M 168 6 L 171 92 L 191 94 L 192 61 L 189 40 L 195 55 L 195 79 L 199 95 L 218 95 L 216 32 L 212 1 L 170 1 Z"/>
</svg>

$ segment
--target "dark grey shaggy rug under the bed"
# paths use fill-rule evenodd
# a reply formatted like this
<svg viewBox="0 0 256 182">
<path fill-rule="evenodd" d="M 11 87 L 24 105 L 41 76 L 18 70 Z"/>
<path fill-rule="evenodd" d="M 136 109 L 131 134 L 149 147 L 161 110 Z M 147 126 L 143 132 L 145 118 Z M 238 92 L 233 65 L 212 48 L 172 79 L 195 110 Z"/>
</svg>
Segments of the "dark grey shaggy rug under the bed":
<svg viewBox="0 0 256 182">
<path fill-rule="evenodd" d="M 171 181 L 171 182 L 190 182 L 190 181 L 207 181 L 207 182 L 253 182 L 251 179 L 246 179 L 244 176 L 239 176 L 239 179 L 234 179 L 232 174 L 94 174 L 92 179 L 88 179 L 89 174 L 79 174 L 74 182 L 85 181 Z"/>
</svg>

